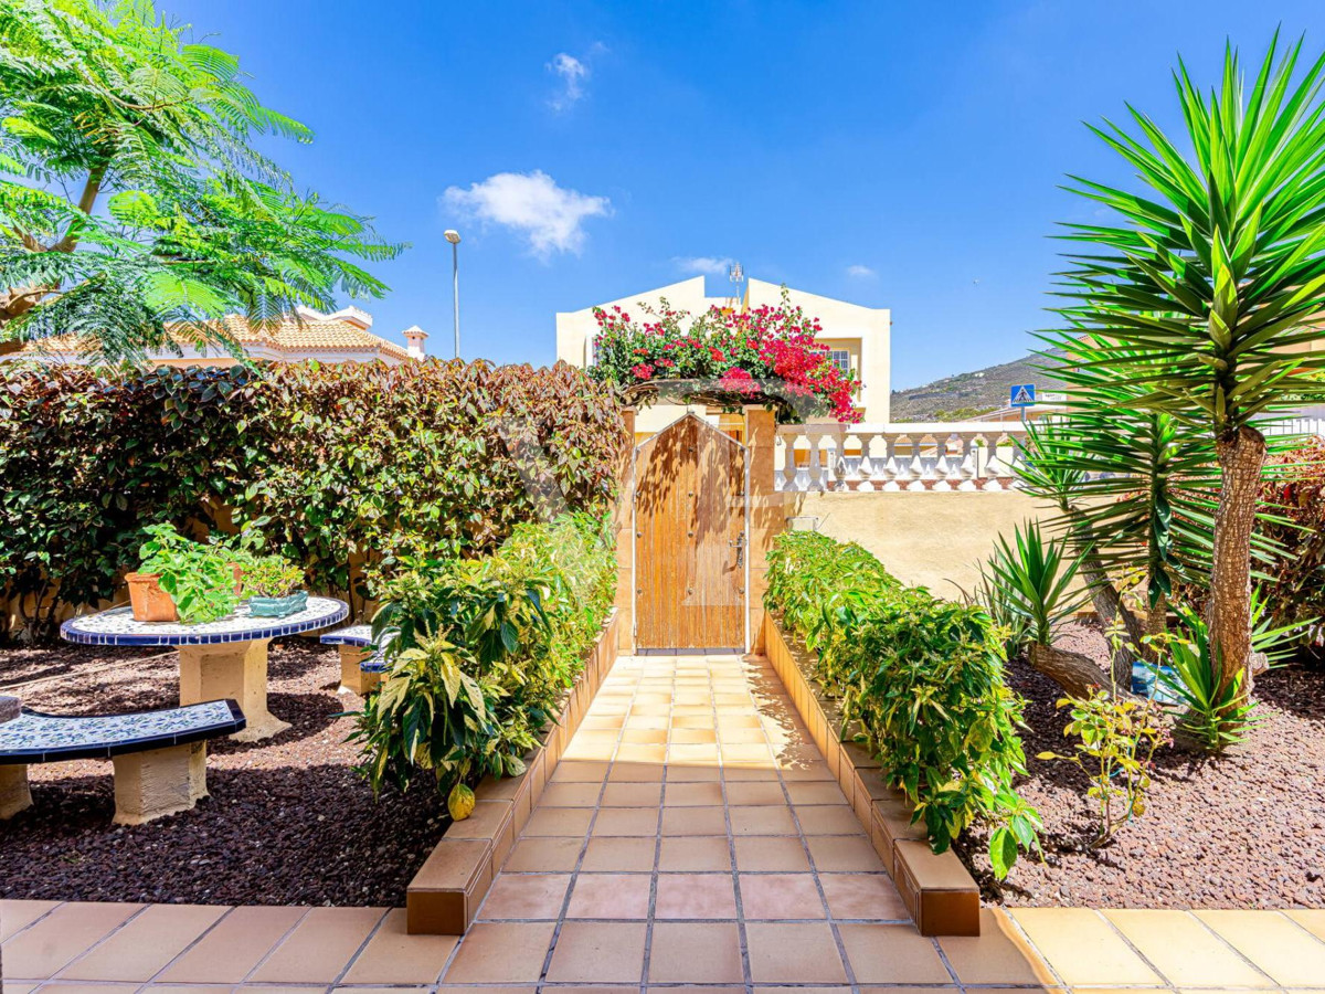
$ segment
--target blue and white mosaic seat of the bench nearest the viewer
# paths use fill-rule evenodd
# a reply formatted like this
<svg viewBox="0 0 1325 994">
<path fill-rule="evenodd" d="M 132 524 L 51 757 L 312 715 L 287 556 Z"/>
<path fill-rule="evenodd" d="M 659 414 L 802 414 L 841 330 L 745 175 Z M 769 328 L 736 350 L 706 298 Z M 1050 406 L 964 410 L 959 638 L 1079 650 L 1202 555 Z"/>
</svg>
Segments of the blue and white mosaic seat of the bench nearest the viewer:
<svg viewBox="0 0 1325 994">
<path fill-rule="evenodd" d="M 132 714 L 70 717 L 23 709 L 0 725 L 0 763 L 110 758 L 228 736 L 245 726 L 235 701 L 207 701 Z"/>
</svg>

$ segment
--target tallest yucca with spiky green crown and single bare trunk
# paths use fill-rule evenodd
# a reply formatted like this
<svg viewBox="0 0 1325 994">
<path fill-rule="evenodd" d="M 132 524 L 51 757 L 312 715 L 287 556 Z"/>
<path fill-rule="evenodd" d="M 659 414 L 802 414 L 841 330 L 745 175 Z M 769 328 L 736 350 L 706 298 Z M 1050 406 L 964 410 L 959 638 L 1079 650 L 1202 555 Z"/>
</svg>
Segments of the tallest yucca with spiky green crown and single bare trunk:
<svg viewBox="0 0 1325 994">
<path fill-rule="evenodd" d="M 1305 351 L 1325 309 L 1325 57 L 1298 76 L 1300 52 L 1301 42 L 1280 56 L 1276 37 L 1247 90 L 1226 49 L 1208 95 L 1179 64 L 1181 143 L 1132 107 L 1140 137 L 1093 129 L 1145 193 L 1077 178 L 1072 187 L 1122 219 L 1068 225 L 1067 237 L 1090 248 L 1069 254 L 1064 314 L 1110 346 L 1093 368 L 1133 391 L 1129 410 L 1199 425 L 1212 444 L 1208 622 L 1224 684 L 1251 657 L 1251 537 L 1265 461 L 1256 420 L 1325 396 L 1313 375 L 1325 353 Z"/>
</svg>

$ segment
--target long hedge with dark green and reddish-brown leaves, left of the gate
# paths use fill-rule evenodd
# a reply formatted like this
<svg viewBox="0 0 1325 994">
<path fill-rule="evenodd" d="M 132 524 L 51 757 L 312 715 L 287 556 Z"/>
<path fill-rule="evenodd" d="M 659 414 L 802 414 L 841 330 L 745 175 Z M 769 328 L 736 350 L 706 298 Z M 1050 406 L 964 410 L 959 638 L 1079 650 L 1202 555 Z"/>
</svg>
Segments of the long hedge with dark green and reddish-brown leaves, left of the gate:
<svg viewBox="0 0 1325 994">
<path fill-rule="evenodd" d="M 49 636 L 162 521 L 256 527 L 314 588 L 364 596 L 364 569 L 401 554 L 480 555 L 603 509 L 627 443 L 611 388 L 560 363 L 4 364 L 0 600 L 36 596 L 25 623 Z"/>
</svg>

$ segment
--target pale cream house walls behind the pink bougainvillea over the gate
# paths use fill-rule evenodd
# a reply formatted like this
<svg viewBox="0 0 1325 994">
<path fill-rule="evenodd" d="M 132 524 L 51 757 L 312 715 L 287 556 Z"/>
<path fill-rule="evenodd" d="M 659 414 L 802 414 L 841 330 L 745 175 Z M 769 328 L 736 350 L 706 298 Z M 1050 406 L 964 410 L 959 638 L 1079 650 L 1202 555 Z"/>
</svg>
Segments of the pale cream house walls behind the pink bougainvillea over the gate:
<svg viewBox="0 0 1325 994">
<path fill-rule="evenodd" d="M 888 307 L 863 307 L 859 304 L 822 297 L 804 290 L 787 290 L 792 305 L 800 306 L 807 317 L 819 318 L 823 334 L 819 339 L 831 347 L 845 349 L 852 355 L 852 368 L 860 376 L 860 395 L 856 403 L 864 408 L 867 421 L 886 421 L 889 417 L 889 396 L 892 391 L 892 311 Z M 727 304 L 721 297 L 705 297 L 704 277 L 660 286 L 656 290 L 631 294 L 616 301 L 596 306 L 611 309 L 619 306 L 633 319 L 641 319 L 645 313 L 641 304 L 655 310 L 666 302 L 674 310 L 692 315 L 706 311 L 712 305 Z M 782 301 L 782 286 L 763 280 L 749 281 L 751 307 L 775 306 Z M 598 334 L 594 307 L 563 311 L 556 315 L 556 358 L 580 368 L 592 362 L 592 341 Z M 636 431 L 651 431 L 655 420 L 660 427 L 674 421 L 684 414 L 676 408 L 672 414 L 657 417 L 640 412 Z"/>
</svg>

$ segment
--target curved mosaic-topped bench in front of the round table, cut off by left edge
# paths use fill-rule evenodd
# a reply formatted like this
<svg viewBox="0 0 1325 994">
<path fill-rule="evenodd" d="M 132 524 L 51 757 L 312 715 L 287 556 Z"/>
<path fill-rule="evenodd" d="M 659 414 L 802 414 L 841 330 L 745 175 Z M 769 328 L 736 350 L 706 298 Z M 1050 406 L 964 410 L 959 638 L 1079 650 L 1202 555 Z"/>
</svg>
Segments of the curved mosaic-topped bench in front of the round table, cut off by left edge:
<svg viewBox="0 0 1325 994">
<path fill-rule="evenodd" d="M 186 811 L 207 797 L 207 740 L 245 725 L 235 701 L 70 717 L 0 697 L 0 819 L 32 804 L 29 766 L 66 759 L 114 763 L 117 824 Z"/>
</svg>

